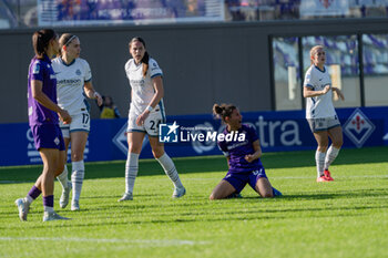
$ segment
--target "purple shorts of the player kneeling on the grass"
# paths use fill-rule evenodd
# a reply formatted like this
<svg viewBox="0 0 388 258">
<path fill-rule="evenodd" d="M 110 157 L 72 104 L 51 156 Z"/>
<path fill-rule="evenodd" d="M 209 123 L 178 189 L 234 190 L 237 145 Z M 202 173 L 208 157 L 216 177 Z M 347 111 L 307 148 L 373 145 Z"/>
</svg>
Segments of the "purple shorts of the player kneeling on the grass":
<svg viewBox="0 0 388 258">
<path fill-rule="evenodd" d="M 223 179 L 228 182 L 236 189 L 237 194 L 239 194 L 246 184 L 249 184 L 255 190 L 256 183 L 262 177 L 268 178 L 265 174 L 264 167 L 248 173 L 235 173 L 229 171 Z"/>
</svg>

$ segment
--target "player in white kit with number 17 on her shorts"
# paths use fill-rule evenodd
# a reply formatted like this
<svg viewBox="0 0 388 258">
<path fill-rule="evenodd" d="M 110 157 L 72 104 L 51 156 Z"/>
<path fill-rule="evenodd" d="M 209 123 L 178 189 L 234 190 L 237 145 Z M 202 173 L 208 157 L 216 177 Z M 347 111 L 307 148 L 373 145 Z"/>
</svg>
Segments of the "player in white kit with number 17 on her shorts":
<svg viewBox="0 0 388 258">
<path fill-rule="evenodd" d="M 84 177 L 83 152 L 90 131 L 90 106 L 85 96 L 96 99 L 99 105 L 102 105 L 102 97 L 92 85 L 92 73 L 89 63 L 80 59 L 81 44 L 79 38 L 64 33 L 59 42 L 61 55 L 52 61 L 57 75 L 58 105 L 68 110 L 72 117 L 70 124 L 60 124 L 67 152 L 71 143 L 72 162 L 71 183 L 68 182 L 67 165 L 63 173 L 58 176 L 63 187 L 60 207 L 67 207 L 70 190 L 73 189 L 71 210 L 79 210 Z"/>
</svg>

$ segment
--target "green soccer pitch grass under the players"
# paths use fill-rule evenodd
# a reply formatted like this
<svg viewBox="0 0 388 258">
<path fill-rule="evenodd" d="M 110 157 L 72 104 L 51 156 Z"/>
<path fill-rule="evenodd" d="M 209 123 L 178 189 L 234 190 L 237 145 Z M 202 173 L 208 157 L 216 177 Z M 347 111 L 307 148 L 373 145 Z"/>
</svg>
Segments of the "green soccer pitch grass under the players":
<svg viewBox="0 0 388 258">
<path fill-rule="evenodd" d="M 224 157 L 175 158 L 187 189 L 173 186 L 155 161 L 141 161 L 132 202 L 124 162 L 88 163 L 81 211 L 42 223 L 42 199 L 20 221 L 13 202 L 25 196 L 41 166 L 0 168 L 0 257 L 387 257 L 388 147 L 343 149 L 335 182 L 316 183 L 314 152 L 262 157 L 279 198 L 210 202 L 226 173 Z"/>
</svg>

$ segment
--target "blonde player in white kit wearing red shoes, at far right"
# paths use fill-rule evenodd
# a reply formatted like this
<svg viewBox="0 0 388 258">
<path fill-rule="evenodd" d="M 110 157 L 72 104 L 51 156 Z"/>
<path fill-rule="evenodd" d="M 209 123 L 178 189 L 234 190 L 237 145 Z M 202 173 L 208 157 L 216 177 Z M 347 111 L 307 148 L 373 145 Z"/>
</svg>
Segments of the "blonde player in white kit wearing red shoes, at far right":
<svg viewBox="0 0 388 258">
<path fill-rule="evenodd" d="M 306 72 L 303 92 L 307 99 L 306 118 L 318 143 L 315 154 L 317 182 L 330 182 L 334 179 L 328 171 L 329 165 L 343 146 L 343 128 L 333 105 L 331 92 L 341 100 L 344 95 L 339 89 L 331 86 L 330 75 L 325 66 L 326 53 L 323 45 L 312 48 L 310 60 L 312 66 Z M 328 148 L 329 137 L 331 145 Z"/>
</svg>

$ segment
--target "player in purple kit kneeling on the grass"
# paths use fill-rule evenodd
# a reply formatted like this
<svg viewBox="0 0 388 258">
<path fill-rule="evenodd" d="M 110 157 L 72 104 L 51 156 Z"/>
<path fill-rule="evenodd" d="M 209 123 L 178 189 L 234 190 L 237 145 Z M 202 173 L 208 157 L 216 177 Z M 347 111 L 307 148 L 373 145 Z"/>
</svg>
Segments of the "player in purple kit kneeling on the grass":
<svg viewBox="0 0 388 258">
<path fill-rule="evenodd" d="M 226 156 L 229 169 L 213 189 L 210 199 L 224 199 L 239 195 L 246 184 L 249 184 L 263 198 L 280 196 L 282 193 L 272 187 L 265 174 L 261 161 L 262 148 L 255 128 L 242 124 L 243 116 L 235 105 L 214 104 L 213 114 L 226 124 L 223 131 L 225 137 L 217 138 L 218 147 Z M 227 137 L 228 134 L 237 136 Z"/>
</svg>

